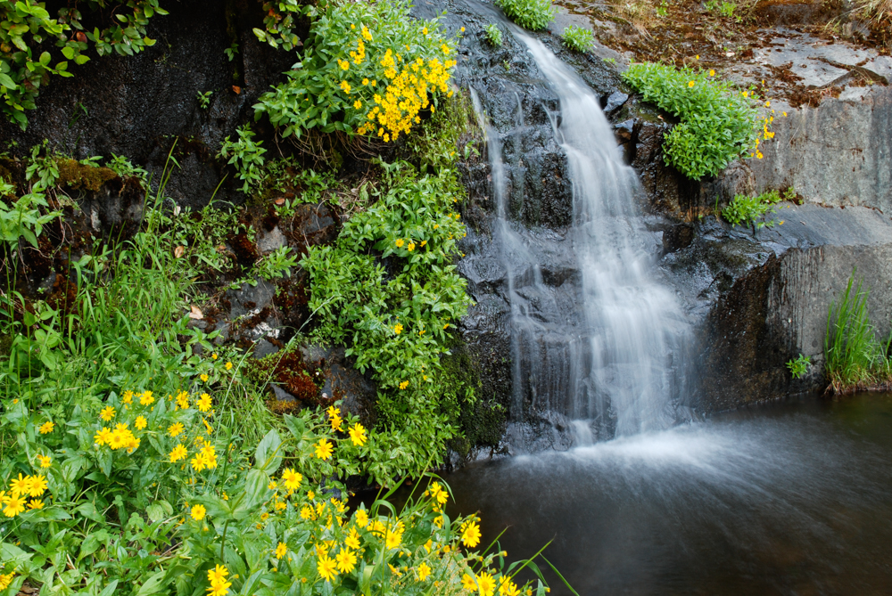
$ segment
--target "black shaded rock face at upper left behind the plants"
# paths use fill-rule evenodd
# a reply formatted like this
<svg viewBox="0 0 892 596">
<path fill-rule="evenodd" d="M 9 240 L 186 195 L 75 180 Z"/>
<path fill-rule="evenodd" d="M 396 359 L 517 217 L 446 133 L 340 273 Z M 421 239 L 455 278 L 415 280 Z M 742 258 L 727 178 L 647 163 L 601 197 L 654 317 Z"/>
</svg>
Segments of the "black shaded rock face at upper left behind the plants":
<svg viewBox="0 0 892 596">
<path fill-rule="evenodd" d="M 136 56 L 94 56 L 72 78 L 53 78 L 29 110 L 21 131 L 0 119 L 0 139 L 28 151 L 44 139 L 51 150 L 77 159 L 124 155 L 147 165 L 157 183 L 174 139 L 174 171 L 166 194 L 184 207 L 211 200 L 222 171 L 214 155 L 227 135 L 252 114 L 251 106 L 293 63 L 293 55 L 261 45 L 253 27 L 263 15 L 252 0 L 190 0 L 165 4 L 149 37 L 157 43 Z M 301 33 L 301 32 L 299 32 Z M 228 61 L 224 50 L 239 53 Z M 236 94 L 233 86 L 238 86 Z M 196 89 L 212 91 L 202 110 Z M 217 199 L 244 200 L 229 181 Z"/>
</svg>

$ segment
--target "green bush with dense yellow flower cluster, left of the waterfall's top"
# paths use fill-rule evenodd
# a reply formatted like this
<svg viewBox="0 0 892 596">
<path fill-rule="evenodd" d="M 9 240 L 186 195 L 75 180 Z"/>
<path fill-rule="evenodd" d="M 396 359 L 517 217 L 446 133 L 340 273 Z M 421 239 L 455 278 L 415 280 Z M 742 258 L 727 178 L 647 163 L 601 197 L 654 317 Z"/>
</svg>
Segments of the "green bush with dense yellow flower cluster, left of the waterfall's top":
<svg viewBox="0 0 892 596">
<path fill-rule="evenodd" d="M 395 141 L 421 110 L 436 110 L 438 94 L 452 94 L 455 51 L 436 19 L 413 20 L 402 0 L 326 4 L 297 68 L 260 96 L 255 118 L 267 114 L 283 136 L 318 129 Z"/>
</svg>

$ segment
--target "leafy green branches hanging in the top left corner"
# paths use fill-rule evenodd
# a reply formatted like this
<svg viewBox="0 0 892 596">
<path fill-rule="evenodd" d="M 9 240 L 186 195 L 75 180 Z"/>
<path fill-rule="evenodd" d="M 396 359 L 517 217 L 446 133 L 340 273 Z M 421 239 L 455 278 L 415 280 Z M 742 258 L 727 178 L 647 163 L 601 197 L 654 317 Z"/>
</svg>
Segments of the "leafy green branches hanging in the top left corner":
<svg viewBox="0 0 892 596">
<path fill-rule="evenodd" d="M 117 22 L 91 31 L 78 7 L 62 6 L 54 17 L 45 3 L 0 0 L 0 99 L 6 117 L 27 127 L 24 111 L 35 108 L 39 88 L 50 75 L 71 77 L 69 61 L 90 60 L 91 44 L 100 56 L 133 55 L 154 45 L 145 29 L 155 14 L 167 14 L 158 1 L 92 0 L 86 3 L 89 12 L 114 12 Z"/>
</svg>

